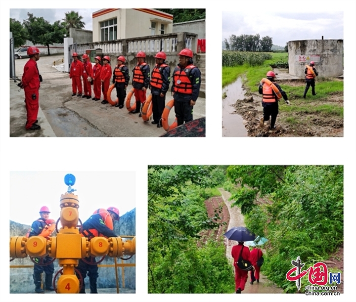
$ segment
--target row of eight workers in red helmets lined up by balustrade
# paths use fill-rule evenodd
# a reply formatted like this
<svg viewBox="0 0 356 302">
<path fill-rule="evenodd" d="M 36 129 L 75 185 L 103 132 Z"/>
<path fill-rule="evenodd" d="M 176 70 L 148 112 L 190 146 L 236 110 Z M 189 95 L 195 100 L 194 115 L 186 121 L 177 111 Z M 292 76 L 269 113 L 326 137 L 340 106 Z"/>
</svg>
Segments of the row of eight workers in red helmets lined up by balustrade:
<svg viewBox="0 0 356 302">
<path fill-rule="evenodd" d="M 110 86 L 112 75 L 112 84 L 116 87 L 118 102 L 115 107 L 120 109 L 124 107 L 126 98 L 126 88 L 129 85 L 129 69 L 125 65 L 126 59 L 123 55 L 118 56 L 117 65 L 114 71 L 111 69 L 110 57 L 104 56 L 101 65 L 101 57 L 95 57 L 95 65 L 92 67 L 90 58 L 87 54 L 83 55 L 84 63 L 78 59 L 78 54 L 73 53 L 73 62 L 71 64 L 69 77 L 72 79 L 72 96 L 91 98 L 91 85 L 93 85 L 94 97 L 92 100 L 99 101 L 101 92 L 103 93 L 102 104 L 107 104 L 107 92 Z M 174 69 L 172 75 L 172 95 L 175 100 L 175 113 L 177 124 L 193 120 L 193 106 L 199 96 L 201 73 L 198 67 L 193 65 L 193 52 L 188 49 L 182 49 L 179 54 L 179 64 Z M 141 117 L 141 107 L 146 101 L 146 90 L 149 88 L 152 94 L 152 124 L 162 127 L 162 113 L 165 108 L 166 94 L 171 82 L 171 69 L 167 65 L 167 55 L 163 51 L 157 52 L 154 56 L 156 64 L 150 72 L 149 65 L 145 62 L 146 54 L 139 51 L 136 55 L 137 64 L 133 69 L 132 85 L 134 87 L 135 109 L 131 113 L 139 113 Z M 83 87 L 82 80 L 83 77 Z M 78 94 L 77 94 L 78 91 Z"/>
</svg>

